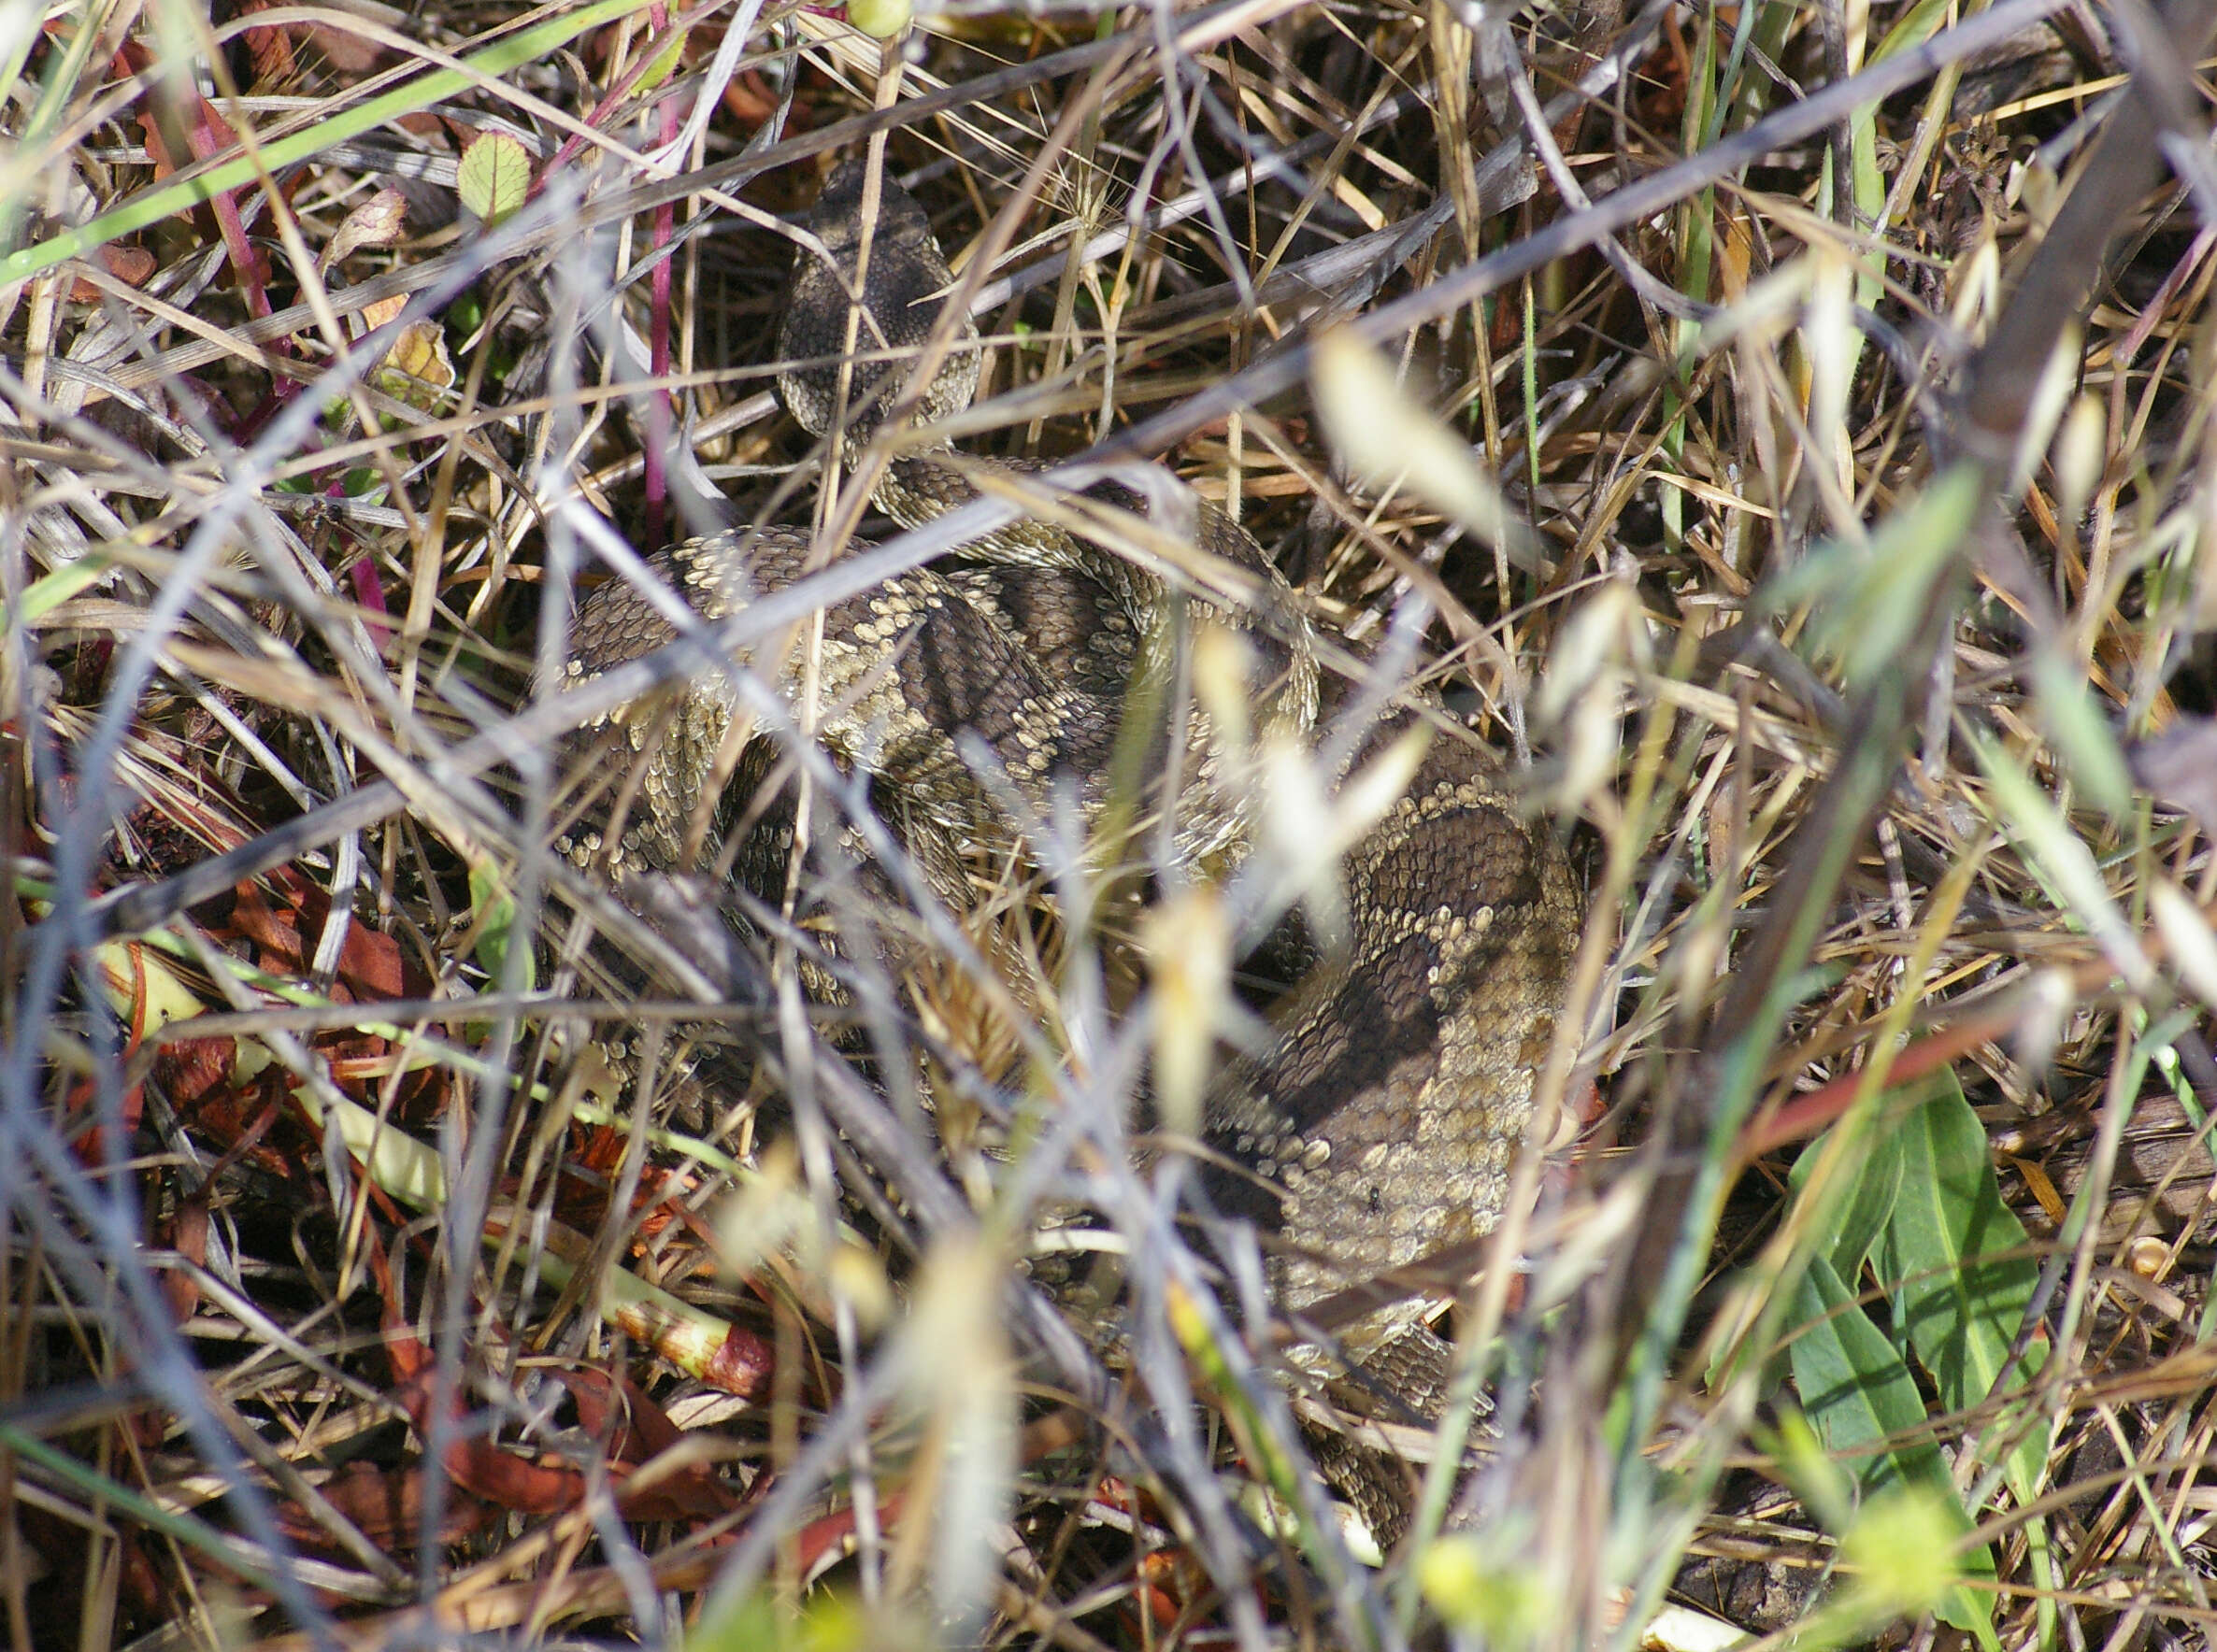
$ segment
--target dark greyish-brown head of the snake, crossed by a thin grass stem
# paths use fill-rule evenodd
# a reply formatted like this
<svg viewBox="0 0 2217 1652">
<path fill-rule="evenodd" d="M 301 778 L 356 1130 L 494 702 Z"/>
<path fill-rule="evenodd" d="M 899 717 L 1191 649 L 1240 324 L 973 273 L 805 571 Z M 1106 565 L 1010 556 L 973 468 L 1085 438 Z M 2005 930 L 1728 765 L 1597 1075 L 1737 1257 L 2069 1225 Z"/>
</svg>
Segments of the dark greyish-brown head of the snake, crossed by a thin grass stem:
<svg viewBox="0 0 2217 1652">
<path fill-rule="evenodd" d="M 803 430 L 823 437 L 840 417 L 865 441 L 909 390 L 911 361 L 931 337 L 953 273 L 931 220 L 891 177 L 878 184 L 878 211 L 865 217 L 867 164 L 840 162 L 809 215 L 818 244 L 794 253 L 794 279 L 778 326 L 778 395 Z M 829 257 L 827 257 L 829 255 Z M 865 273 L 860 288 L 856 271 Z M 860 295 L 860 304 L 856 297 Z M 969 406 L 978 390 L 978 328 L 964 315 L 920 399 L 924 424 Z"/>
</svg>

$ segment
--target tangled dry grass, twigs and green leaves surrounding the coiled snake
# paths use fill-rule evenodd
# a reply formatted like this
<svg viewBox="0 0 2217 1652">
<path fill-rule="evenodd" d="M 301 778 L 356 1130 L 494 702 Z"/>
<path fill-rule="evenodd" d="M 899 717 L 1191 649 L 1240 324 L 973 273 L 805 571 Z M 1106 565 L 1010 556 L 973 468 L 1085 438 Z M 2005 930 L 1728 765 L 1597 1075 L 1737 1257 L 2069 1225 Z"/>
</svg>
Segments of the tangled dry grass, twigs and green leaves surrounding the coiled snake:
<svg viewBox="0 0 2217 1652">
<path fill-rule="evenodd" d="M 0 24 L 11 1645 L 2208 1632 L 2197 7 L 49 11 Z M 1401 1282 L 1461 1404 L 1368 1430 L 1388 1554 L 1310 1470 L 1330 1324 L 1148 1104 L 1268 996 L 1213 925 L 1324 871 L 1219 909 L 1044 820 L 913 903 L 805 743 L 701 880 L 556 852 L 627 763 L 576 730 L 714 670 L 539 687 L 581 590 L 891 539 L 769 397 L 858 153 L 991 339 L 969 448 L 1166 463 L 1583 865 L 1536 1197 Z M 774 789 L 876 871 L 734 927 Z"/>
</svg>

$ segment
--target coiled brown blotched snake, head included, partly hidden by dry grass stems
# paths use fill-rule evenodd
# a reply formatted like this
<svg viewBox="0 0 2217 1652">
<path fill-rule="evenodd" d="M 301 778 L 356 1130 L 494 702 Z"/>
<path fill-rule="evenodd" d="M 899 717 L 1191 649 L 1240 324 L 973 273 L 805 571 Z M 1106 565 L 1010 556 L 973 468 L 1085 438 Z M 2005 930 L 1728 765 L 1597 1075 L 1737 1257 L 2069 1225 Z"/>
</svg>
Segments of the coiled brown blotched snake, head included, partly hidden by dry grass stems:
<svg viewBox="0 0 2217 1652">
<path fill-rule="evenodd" d="M 849 450 L 858 450 L 891 424 L 889 408 L 900 412 L 902 357 L 931 333 L 951 275 L 924 211 L 891 180 L 865 217 L 860 162 L 834 171 L 811 228 L 831 262 L 814 248 L 796 257 L 778 388 L 811 435 L 845 412 Z M 916 424 L 929 430 L 969 406 L 978 359 L 975 330 L 964 326 L 918 397 Z M 980 466 L 1022 472 L 927 446 L 929 435 L 916 430 L 887 435 L 893 457 L 873 501 L 909 528 L 973 499 Z M 1091 494 L 1146 506 L 1117 486 Z M 1033 820 L 1049 820 L 1062 787 L 1075 792 L 1089 825 L 1106 818 L 1120 727 L 1140 703 L 1133 683 L 1166 672 L 1195 628 L 1244 639 L 1255 738 L 1306 738 L 1330 714 L 1339 694 L 1319 687 L 1310 623 L 1273 561 L 1206 503 L 1195 543 L 1246 577 L 1248 601 L 1182 594 L 1142 559 L 1022 521 L 829 608 L 814 665 L 803 643 L 752 665 L 796 707 L 807 696 L 818 743 L 842 767 L 871 774 L 902 847 L 960 909 L 980 847 L 1022 840 L 1011 796 Z M 809 534 L 734 530 L 663 550 L 650 568 L 714 621 L 800 579 Z M 581 603 L 563 674 L 592 679 L 672 636 L 636 590 L 610 581 Z M 623 818 L 579 838 L 579 854 L 685 869 L 703 789 L 734 767 L 734 685 L 721 674 L 696 676 L 676 705 L 614 712 L 638 767 L 636 794 L 619 792 Z M 1168 718 L 1157 721 L 1164 730 L 1144 772 L 1182 783 L 1148 805 L 1173 812 L 1188 867 L 1222 876 L 1257 829 L 1253 776 L 1222 756 L 1226 743 L 1202 712 L 1186 718 L 1179 752 Z M 991 785 L 973 767 L 980 752 L 995 769 Z M 1581 920 L 1561 847 L 1519 818 L 1468 741 L 1432 738 L 1412 785 L 1346 856 L 1344 878 L 1350 945 L 1286 993 L 1275 1042 L 1230 1064 L 1204 1120 L 1217 1158 L 1235 1166 L 1210 1175 L 1213 1197 L 1284 1235 L 1275 1286 L 1293 1313 L 1494 1226 Z M 1430 1359 L 1399 1357 L 1383 1377 L 1423 1413 L 1430 1379 L 1406 1373 L 1437 1370 L 1439 1359 L 1414 1313 L 1375 1315 L 1361 1339 L 1357 1353 L 1368 1348 L 1381 1370 L 1394 1346 L 1434 1344 Z"/>
</svg>

